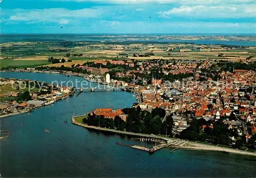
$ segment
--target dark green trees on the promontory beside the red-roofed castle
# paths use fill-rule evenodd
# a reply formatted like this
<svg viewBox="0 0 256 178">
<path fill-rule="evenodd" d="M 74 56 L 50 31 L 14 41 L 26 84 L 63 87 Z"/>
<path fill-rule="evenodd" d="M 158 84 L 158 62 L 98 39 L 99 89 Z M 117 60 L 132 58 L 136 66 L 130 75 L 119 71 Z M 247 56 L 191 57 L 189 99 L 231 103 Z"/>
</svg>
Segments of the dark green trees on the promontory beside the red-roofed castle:
<svg viewBox="0 0 256 178">
<path fill-rule="evenodd" d="M 127 115 L 126 121 L 119 116 L 113 119 L 104 118 L 104 116 L 95 116 L 89 114 L 83 118 L 83 123 L 88 125 L 100 126 L 102 128 L 116 129 L 120 131 L 143 133 L 143 134 L 163 134 L 172 135 L 171 131 L 174 125 L 171 115 L 165 117 L 165 110 L 155 108 L 151 112 L 137 108 L 124 108 L 123 113 Z"/>
</svg>

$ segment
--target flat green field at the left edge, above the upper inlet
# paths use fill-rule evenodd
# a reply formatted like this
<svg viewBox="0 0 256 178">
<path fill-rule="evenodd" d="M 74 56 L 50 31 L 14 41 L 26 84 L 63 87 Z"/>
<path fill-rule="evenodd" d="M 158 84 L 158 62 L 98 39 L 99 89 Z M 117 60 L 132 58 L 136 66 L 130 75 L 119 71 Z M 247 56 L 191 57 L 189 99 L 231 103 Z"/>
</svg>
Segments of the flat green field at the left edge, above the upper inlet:
<svg viewBox="0 0 256 178">
<path fill-rule="evenodd" d="M 40 65 L 51 64 L 47 60 L 12 60 L 2 59 L 0 60 L 0 68 L 2 67 L 35 67 Z"/>
</svg>

